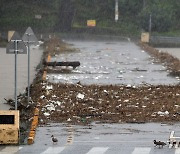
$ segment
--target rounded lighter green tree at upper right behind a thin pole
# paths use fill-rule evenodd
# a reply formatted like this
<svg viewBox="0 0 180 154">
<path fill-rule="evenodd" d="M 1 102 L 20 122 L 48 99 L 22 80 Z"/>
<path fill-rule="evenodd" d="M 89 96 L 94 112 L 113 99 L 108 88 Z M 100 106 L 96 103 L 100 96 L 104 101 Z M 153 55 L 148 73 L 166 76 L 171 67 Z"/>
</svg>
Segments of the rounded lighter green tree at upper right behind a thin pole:
<svg viewBox="0 0 180 154">
<path fill-rule="evenodd" d="M 160 0 L 156 0 L 140 12 L 140 25 L 146 31 L 148 31 L 149 28 L 150 15 L 152 21 L 152 31 L 168 31 L 175 20 L 173 6 L 170 3 L 167 3 L 167 1 L 160 3 Z"/>
</svg>

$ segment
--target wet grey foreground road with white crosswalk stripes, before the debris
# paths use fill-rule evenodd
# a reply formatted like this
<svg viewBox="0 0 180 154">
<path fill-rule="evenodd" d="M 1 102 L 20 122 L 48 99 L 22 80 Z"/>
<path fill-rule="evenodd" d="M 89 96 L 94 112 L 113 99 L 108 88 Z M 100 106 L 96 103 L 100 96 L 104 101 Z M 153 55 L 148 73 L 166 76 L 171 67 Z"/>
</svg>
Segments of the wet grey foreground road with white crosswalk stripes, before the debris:
<svg viewBox="0 0 180 154">
<path fill-rule="evenodd" d="M 2 154 L 180 154 L 180 147 L 154 147 L 153 140 L 166 142 L 174 130 L 180 136 L 180 124 L 95 124 L 74 126 L 50 124 L 39 127 L 35 143 L 25 146 L 0 146 Z M 51 135 L 59 140 L 51 141 Z"/>
</svg>

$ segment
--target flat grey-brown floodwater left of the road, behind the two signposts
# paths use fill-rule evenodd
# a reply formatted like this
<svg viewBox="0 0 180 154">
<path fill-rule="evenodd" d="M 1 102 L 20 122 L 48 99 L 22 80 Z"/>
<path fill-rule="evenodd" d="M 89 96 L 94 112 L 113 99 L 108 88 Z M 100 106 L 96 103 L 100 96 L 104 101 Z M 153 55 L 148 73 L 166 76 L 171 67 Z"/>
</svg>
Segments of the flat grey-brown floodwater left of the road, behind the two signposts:
<svg viewBox="0 0 180 154">
<path fill-rule="evenodd" d="M 37 47 L 31 47 L 31 66 L 30 80 L 35 77 L 35 68 L 39 64 L 42 50 Z M 0 110 L 8 109 L 9 106 L 3 104 L 4 98 L 14 99 L 14 73 L 15 56 L 6 54 L 5 48 L 0 48 Z M 26 54 L 17 55 L 17 95 L 23 93 L 27 87 L 28 80 L 28 56 Z"/>
</svg>

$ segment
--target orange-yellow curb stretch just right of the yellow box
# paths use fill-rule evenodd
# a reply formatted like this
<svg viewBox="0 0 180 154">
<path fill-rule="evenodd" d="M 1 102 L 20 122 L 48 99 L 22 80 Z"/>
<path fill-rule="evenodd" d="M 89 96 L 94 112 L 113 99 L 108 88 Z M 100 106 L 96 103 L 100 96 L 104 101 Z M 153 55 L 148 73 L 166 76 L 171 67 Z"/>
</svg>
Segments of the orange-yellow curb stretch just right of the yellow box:
<svg viewBox="0 0 180 154">
<path fill-rule="evenodd" d="M 34 109 L 34 117 L 33 117 L 33 121 L 31 123 L 31 129 L 29 132 L 29 137 L 28 137 L 28 144 L 33 144 L 34 143 L 34 138 L 35 138 L 35 134 L 36 134 L 36 127 L 38 125 L 38 118 L 39 118 L 39 109 L 35 108 Z"/>
</svg>

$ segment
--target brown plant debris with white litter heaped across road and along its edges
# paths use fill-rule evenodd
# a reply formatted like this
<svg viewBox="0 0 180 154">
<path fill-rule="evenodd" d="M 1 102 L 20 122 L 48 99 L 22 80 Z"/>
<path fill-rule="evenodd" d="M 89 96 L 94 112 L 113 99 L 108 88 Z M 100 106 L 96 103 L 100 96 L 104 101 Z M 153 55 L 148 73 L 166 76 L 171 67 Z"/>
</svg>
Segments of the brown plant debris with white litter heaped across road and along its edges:
<svg viewBox="0 0 180 154">
<path fill-rule="evenodd" d="M 142 44 L 141 44 L 142 45 Z M 150 51 L 151 48 L 143 46 Z M 61 48 L 61 49 L 60 49 Z M 69 47 L 68 47 L 69 48 Z M 65 44 L 59 40 L 45 43 L 47 54 L 59 54 L 67 50 Z M 159 58 L 159 54 L 154 56 Z M 166 54 L 161 58 L 169 59 Z M 170 56 L 168 69 L 172 74 L 179 75 L 180 62 Z M 170 66 L 171 64 L 171 66 Z M 47 69 L 47 68 L 46 68 Z M 42 80 L 41 68 L 30 87 L 31 100 L 27 104 L 26 94 L 18 97 L 18 109 L 21 117 L 21 134 L 27 133 L 28 125 L 32 121 L 33 108 L 40 110 L 39 123 L 69 122 L 72 124 L 88 124 L 93 121 L 105 123 L 144 123 L 144 122 L 177 122 L 180 120 L 180 87 L 179 85 L 83 85 L 50 83 Z M 27 92 L 26 92 L 27 93 Z M 7 103 L 14 105 L 13 100 Z"/>
</svg>

